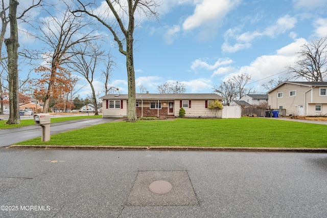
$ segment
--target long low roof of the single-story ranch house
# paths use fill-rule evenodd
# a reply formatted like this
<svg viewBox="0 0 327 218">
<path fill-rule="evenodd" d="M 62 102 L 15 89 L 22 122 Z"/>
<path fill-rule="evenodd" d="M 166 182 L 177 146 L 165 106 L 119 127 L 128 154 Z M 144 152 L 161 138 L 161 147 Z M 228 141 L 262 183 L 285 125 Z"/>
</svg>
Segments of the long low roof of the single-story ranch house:
<svg viewBox="0 0 327 218">
<path fill-rule="evenodd" d="M 128 99 L 127 94 L 109 94 L 100 97 L 101 99 Z M 149 94 L 149 93 L 136 93 L 136 100 L 141 99 L 151 99 L 151 100 L 196 100 L 196 99 L 205 99 L 205 100 L 222 100 L 223 97 L 217 95 L 215 93 L 207 93 L 207 94 Z"/>
</svg>

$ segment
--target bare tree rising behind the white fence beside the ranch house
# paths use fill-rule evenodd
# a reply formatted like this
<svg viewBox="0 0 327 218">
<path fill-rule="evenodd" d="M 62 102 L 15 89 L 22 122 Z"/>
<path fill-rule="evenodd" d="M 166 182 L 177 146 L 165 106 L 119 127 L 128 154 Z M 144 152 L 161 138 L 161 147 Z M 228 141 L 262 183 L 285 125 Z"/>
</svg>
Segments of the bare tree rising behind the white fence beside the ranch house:
<svg viewBox="0 0 327 218">
<path fill-rule="evenodd" d="M 224 103 L 228 106 L 229 103 L 238 96 L 236 84 L 231 79 L 222 82 L 219 86 L 216 85 L 214 87 L 214 92 L 220 94 L 224 98 Z"/>
</svg>

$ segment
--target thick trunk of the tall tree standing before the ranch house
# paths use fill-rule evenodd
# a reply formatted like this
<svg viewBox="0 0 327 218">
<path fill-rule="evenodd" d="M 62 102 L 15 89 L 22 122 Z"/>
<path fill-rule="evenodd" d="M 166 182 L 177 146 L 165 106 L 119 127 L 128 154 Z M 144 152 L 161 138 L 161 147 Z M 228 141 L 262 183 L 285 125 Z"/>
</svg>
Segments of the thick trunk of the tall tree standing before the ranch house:
<svg viewBox="0 0 327 218">
<path fill-rule="evenodd" d="M 135 99 L 135 72 L 133 60 L 133 32 L 128 31 L 126 40 L 126 67 L 128 79 L 128 114 L 127 122 L 137 121 Z"/>
</svg>

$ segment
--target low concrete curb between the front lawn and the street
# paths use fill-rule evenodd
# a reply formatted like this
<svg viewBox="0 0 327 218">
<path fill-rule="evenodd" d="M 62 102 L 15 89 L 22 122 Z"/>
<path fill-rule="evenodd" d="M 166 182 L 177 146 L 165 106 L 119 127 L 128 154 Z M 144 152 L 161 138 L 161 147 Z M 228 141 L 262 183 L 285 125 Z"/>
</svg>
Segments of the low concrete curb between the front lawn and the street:
<svg viewBox="0 0 327 218">
<path fill-rule="evenodd" d="M 181 151 L 250 151 L 250 152 L 315 152 L 327 153 L 327 148 L 274 148 L 274 147 L 186 147 L 186 146 L 71 146 L 71 145 L 11 145 L 17 149 L 65 150 L 181 150 Z"/>
</svg>

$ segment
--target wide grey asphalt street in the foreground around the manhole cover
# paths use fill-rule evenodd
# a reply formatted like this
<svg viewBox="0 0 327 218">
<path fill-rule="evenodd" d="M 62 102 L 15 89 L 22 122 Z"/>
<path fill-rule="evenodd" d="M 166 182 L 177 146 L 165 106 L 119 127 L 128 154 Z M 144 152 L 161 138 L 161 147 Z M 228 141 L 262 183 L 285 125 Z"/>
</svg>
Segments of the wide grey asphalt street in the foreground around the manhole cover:
<svg viewBox="0 0 327 218">
<path fill-rule="evenodd" d="M 326 181 L 325 153 L 0 148 L 0 217 L 326 217 Z"/>
</svg>

